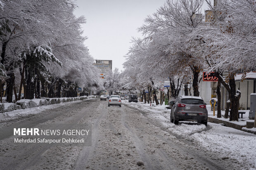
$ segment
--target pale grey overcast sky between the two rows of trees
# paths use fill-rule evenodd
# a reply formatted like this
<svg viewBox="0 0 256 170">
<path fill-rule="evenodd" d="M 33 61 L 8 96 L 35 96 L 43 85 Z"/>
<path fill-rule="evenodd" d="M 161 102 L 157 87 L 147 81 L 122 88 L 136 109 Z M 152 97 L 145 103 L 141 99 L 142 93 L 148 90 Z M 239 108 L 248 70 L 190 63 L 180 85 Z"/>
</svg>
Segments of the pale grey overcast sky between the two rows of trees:
<svg viewBox="0 0 256 170">
<path fill-rule="evenodd" d="M 113 60 L 112 69 L 123 70 L 123 57 L 132 37 L 141 37 L 137 28 L 147 15 L 156 12 L 166 0 L 77 0 L 76 16 L 84 15 L 85 46 L 98 60 Z"/>
</svg>

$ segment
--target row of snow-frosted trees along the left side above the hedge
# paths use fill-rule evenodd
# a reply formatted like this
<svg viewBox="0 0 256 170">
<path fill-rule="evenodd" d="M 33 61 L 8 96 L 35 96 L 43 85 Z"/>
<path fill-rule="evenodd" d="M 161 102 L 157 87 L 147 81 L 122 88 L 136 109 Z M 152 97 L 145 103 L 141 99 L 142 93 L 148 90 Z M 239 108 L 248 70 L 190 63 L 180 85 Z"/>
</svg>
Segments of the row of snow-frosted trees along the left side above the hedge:
<svg viewBox="0 0 256 170">
<path fill-rule="evenodd" d="M 6 83 L 7 102 L 13 91 L 21 99 L 22 87 L 25 99 L 103 88 L 83 44 L 85 18 L 74 16 L 75 8 L 73 0 L 0 0 L 0 89 Z"/>
</svg>

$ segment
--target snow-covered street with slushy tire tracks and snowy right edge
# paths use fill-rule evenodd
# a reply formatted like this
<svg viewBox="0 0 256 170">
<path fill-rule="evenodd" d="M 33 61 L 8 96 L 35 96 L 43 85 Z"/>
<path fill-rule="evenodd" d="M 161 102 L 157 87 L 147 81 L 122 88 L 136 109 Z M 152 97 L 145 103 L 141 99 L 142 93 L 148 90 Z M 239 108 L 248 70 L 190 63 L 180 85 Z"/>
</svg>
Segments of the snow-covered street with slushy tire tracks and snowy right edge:
<svg viewBox="0 0 256 170">
<path fill-rule="evenodd" d="M 255 169 L 255 135 L 212 123 L 174 125 L 168 109 L 139 105 L 92 99 L 0 119 L 0 169 Z M 52 122 L 92 124 L 92 145 L 13 142 L 14 127 Z"/>
</svg>

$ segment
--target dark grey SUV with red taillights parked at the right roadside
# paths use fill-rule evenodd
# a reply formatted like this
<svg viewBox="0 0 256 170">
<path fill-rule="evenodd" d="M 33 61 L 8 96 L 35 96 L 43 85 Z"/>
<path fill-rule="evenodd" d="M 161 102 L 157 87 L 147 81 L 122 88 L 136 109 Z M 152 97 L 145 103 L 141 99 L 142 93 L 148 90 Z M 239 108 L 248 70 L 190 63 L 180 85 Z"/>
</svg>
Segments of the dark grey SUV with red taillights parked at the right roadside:
<svg viewBox="0 0 256 170">
<path fill-rule="evenodd" d="M 178 124 L 179 121 L 197 121 L 207 126 L 208 112 L 206 103 L 201 97 L 179 96 L 171 104 L 170 121 Z"/>
</svg>

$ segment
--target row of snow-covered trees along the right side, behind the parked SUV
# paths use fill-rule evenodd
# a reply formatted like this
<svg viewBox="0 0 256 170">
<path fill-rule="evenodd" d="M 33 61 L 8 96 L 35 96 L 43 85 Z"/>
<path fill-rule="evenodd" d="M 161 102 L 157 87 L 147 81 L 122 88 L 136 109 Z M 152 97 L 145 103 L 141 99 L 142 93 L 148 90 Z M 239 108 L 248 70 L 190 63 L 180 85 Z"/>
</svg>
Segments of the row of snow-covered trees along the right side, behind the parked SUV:
<svg viewBox="0 0 256 170">
<path fill-rule="evenodd" d="M 201 14 L 204 0 L 167 0 L 148 16 L 139 28 L 143 38 L 133 39 L 126 56 L 124 81 L 128 89 L 143 90 L 168 78 L 172 97 L 178 96 L 181 84 L 186 94 L 191 84 L 194 96 L 199 96 L 202 70 L 214 71 L 218 87 L 222 83 L 229 92 L 230 120 L 238 120 L 241 94 L 235 74 L 256 70 L 256 4 L 254 0 L 206 2 L 212 12 L 207 22 Z"/>
</svg>

